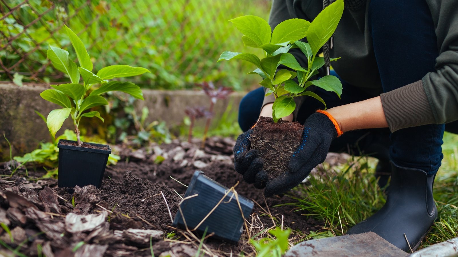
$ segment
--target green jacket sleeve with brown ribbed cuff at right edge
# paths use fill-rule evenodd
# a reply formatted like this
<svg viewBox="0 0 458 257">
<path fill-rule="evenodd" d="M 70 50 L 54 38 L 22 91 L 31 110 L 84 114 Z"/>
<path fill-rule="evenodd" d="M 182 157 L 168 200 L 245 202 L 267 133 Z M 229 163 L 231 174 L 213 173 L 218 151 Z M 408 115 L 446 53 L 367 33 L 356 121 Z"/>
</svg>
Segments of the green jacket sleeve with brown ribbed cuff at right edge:
<svg viewBox="0 0 458 257">
<path fill-rule="evenodd" d="M 435 72 L 381 95 L 390 130 L 458 120 L 458 1 L 428 0 L 439 49 Z"/>
</svg>

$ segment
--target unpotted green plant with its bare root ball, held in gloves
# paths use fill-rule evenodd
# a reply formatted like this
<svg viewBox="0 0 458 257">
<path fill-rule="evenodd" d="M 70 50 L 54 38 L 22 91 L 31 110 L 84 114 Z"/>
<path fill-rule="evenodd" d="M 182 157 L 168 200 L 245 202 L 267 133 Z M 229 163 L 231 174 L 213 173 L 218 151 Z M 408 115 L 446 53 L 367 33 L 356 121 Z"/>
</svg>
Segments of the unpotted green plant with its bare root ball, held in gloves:
<svg viewBox="0 0 458 257">
<path fill-rule="evenodd" d="M 326 103 L 320 96 L 309 91 L 309 86 L 333 91 L 339 97 L 342 94 L 342 84 L 337 77 L 326 75 L 318 80 L 313 78 L 325 64 L 324 57 L 317 54 L 333 35 L 343 11 L 344 0 L 336 0 L 312 22 L 289 19 L 278 24 L 273 31 L 267 21 L 257 16 L 241 16 L 230 20 L 244 34 L 242 41 L 245 46 L 264 50 L 262 59 L 255 54 L 225 51 L 218 62 L 240 59 L 254 64 L 257 69 L 248 74 L 260 75 L 262 81 L 259 84 L 268 89 L 266 96 L 275 96 L 273 118 L 260 118 L 250 135 L 251 149 L 259 150 L 269 178 L 277 177 L 288 169 L 289 158 L 302 139 L 303 126 L 300 123 L 282 120 L 294 111 L 294 97 L 314 97 L 326 109 Z M 299 41 L 302 38 L 306 38 L 308 43 Z M 294 55 L 288 53 L 291 48 L 299 48 L 305 54 L 307 67 L 301 67 Z M 278 70 L 280 64 L 288 69 Z"/>
</svg>

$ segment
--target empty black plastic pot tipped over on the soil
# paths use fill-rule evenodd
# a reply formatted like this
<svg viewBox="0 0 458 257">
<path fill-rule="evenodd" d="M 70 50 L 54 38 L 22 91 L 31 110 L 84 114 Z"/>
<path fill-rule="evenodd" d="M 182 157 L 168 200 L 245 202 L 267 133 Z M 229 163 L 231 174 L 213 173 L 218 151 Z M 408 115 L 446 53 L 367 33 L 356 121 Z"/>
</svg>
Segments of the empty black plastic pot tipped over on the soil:
<svg viewBox="0 0 458 257">
<path fill-rule="evenodd" d="M 187 226 L 189 230 L 195 230 L 199 234 L 203 234 L 207 229 L 206 235 L 214 233 L 212 238 L 236 243 L 243 231 L 243 217 L 247 218 L 251 214 L 254 204 L 251 200 L 238 195 L 240 208 L 234 193 L 228 192 L 229 188 L 203 175 L 202 171 L 194 172 L 185 198 L 180 204 L 181 212 L 179 209 L 173 225 L 183 229 Z M 224 197 L 226 193 L 228 194 Z"/>
</svg>

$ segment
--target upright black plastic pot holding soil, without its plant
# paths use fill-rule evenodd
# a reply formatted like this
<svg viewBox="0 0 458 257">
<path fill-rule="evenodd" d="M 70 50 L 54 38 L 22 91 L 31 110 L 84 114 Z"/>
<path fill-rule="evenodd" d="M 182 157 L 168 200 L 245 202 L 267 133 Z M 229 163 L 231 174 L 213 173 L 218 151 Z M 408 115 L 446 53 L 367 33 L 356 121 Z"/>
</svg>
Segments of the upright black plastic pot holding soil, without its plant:
<svg viewBox="0 0 458 257">
<path fill-rule="evenodd" d="M 100 187 L 107 167 L 109 145 L 84 143 L 83 146 L 69 145 L 76 141 L 59 140 L 59 187 Z M 90 147 L 85 147 L 90 146 Z M 94 148 L 92 148 L 94 147 Z"/>
</svg>

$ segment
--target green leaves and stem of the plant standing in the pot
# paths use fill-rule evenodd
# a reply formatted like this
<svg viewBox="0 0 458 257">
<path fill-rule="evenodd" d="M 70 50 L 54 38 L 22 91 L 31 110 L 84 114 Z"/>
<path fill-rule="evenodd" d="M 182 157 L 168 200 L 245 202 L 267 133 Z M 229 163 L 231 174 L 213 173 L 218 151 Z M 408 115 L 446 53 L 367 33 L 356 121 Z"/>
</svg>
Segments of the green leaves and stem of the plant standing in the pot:
<svg viewBox="0 0 458 257">
<path fill-rule="evenodd" d="M 139 86 L 132 82 L 109 81 L 113 78 L 130 77 L 141 75 L 149 70 L 142 67 L 131 67 L 129 65 L 111 65 L 102 68 L 97 75 L 92 73 L 93 63 L 81 39 L 65 26 L 70 42 L 76 52 L 79 67 L 72 61 L 68 52 L 62 48 L 49 46 L 48 58 L 51 60 L 54 68 L 64 72 L 69 76 L 71 83 L 51 85 L 54 89 L 43 91 L 40 96 L 49 102 L 58 104 L 64 108 L 56 109 L 49 112 L 47 125 L 49 132 L 54 137 L 56 132 L 62 127 L 65 119 L 69 116 L 75 126 L 78 146 L 82 146 L 80 140 L 80 130 L 78 129 L 81 118 L 83 117 L 100 117 L 97 111 L 88 112 L 92 107 L 108 104 L 107 100 L 101 96 L 109 91 L 122 91 L 137 99 L 143 99 L 143 93 Z M 80 83 L 80 76 L 82 83 Z M 100 85 L 97 89 L 92 90 L 94 85 Z"/>
</svg>

